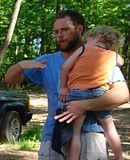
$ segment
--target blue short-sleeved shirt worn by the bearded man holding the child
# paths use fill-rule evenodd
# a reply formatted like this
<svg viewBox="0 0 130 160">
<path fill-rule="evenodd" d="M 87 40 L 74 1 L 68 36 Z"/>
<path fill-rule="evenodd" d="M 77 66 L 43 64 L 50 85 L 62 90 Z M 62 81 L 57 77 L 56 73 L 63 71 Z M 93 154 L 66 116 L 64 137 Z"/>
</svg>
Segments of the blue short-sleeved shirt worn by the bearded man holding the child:
<svg viewBox="0 0 130 160">
<path fill-rule="evenodd" d="M 62 52 L 53 54 L 45 54 L 36 58 L 36 61 L 43 61 L 47 59 L 46 68 L 25 70 L 25 76 L 37 85 L 41 85 L 48 96 L 48 116 L 42 132 L 42 140 L 51 140 L 53 128 L 55 124 L 54 116 L 58 107 L 58 84 L 61 66 L 64 63 Z M 117 74 L 117 71 L 116 71 Z M 117 80 L 123 79 L 120 72 Z M 113 76 L 113 74 L 112 74 Z M 122 78 L 121 78 L 122 76 Z M 120 77 L 120 78 L 119 78 Z M 114 76 L 113 76 L 114 79 Z M 113 80 L 114 81 L 114 80 Z M 115 79 L 116 81 L 116 79 Z M 102 132 L 103 129 L 92 113 L 88 113 L 83 124 L 83 130 L 87 132 Z"/>
</svg>

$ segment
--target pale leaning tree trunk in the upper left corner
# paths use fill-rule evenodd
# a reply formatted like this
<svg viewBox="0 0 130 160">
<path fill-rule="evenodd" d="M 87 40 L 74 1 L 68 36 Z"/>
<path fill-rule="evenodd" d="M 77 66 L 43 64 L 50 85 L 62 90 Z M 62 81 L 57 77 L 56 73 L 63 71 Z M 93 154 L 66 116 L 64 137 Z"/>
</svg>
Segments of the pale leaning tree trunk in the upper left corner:
<svg viewBox="0 0 130 160">
<path fill-rule="evenodd" d="M 5 53 L 8 49 L 8 46 L 11 42 L 11 39 L 12 39 L 12 36 L 13 36 L 13 33 L 14 33 L 14 29 L 15 29 L 15 25 L 16 25 L 16 22 L 17 22 L 18 14 L 19 14 L 21 2 L 22 2 L 22 0 L 16 0 L 16 2 L 15 2 L 14 12 L 12 14 L 12 20 L 11 20 L 11 23 L 9 25 L 8 33 L 6 35 L 6 38 L 4 40 L 4 43 L 3 43 L 2 47 L 0 48 L 0 64 L 2 63 L 4 55 L 5 55 Z"/>
</svg>

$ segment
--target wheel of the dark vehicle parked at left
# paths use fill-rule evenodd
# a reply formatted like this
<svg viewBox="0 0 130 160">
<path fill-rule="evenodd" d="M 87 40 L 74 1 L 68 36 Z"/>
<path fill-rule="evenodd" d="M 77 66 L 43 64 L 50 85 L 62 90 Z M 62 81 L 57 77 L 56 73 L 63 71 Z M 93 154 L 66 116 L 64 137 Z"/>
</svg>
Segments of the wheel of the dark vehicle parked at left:
<svg viewBox="0 0 130 160">
<path fill-rule="evenodd" d="M 9 142 L 15 142 L 21 134 L 21 123 L 16 111 L 7 112 L 3 120 L 3 135 Z"/>
</svg>

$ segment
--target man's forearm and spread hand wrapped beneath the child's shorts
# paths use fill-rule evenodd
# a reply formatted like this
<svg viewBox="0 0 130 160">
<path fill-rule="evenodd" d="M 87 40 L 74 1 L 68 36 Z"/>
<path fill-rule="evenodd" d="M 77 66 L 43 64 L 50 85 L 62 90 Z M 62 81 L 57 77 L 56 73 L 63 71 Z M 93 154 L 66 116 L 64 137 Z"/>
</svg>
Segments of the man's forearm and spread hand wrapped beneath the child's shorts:
<svg viewBox="0 0 130 160">
<path fill-rule="evenodd" d="M 60 122 L 72 122 L 87 111 L 111 110 L 129 101 L 129 90 L 125 82 L 116 82 L 111 89 L 102 96 L 89 100 L 71 101 L 67 111 L 55 116 Z"/>
</svg>

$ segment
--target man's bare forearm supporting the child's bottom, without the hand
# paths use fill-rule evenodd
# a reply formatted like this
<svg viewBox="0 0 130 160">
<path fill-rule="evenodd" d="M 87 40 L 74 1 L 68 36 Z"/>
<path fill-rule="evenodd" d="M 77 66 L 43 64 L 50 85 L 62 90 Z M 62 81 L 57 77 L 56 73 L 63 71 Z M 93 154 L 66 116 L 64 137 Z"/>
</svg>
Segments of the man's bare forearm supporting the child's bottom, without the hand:
<svg viewBox="0 0 130 160">
<path fill-rule="evenodd" d="M 128 101 L 129 90 L 127 84 L 125 82 L 116 82 L 104 95 L 86 100 L 86 111 L 111 110 Z"/>
</svg>

